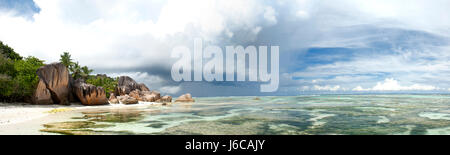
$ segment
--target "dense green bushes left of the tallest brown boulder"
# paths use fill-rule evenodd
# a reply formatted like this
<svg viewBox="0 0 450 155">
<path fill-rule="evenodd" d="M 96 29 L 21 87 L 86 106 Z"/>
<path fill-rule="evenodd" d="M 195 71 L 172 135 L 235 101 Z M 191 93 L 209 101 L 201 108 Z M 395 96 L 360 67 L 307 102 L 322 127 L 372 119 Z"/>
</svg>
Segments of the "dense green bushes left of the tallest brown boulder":
<svg viewBox="0 0 450 155">
<path fill-rule="evenodd" d="M 23 58 L 0 41 L 0 101 L 26 101 L 36 89 L 36 70 L 44 61 L 36 57 Z"/>
</svg>

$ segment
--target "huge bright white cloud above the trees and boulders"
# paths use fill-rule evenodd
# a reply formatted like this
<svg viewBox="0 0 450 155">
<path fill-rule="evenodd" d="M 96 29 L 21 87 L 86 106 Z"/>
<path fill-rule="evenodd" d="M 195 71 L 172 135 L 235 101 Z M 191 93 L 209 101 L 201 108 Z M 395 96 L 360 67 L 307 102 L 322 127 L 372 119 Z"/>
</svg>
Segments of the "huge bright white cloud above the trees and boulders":
<svg viewBox="0 0 450 155">
<path fill-rule="evenodd" d="M 70 51 L 74 59 L 94 69 L 168 66 L 172 48 L 192 46 L 194 37 L 218 42 L 239 31 L 249 32 L 240 37 L 248 42 L 277 23 L 276 10 L 258 0 L 35 3 L 41 11 L 34 20 L 0 14 L 0 40 L 22 55 L 47 62 Z"/>
</svg>

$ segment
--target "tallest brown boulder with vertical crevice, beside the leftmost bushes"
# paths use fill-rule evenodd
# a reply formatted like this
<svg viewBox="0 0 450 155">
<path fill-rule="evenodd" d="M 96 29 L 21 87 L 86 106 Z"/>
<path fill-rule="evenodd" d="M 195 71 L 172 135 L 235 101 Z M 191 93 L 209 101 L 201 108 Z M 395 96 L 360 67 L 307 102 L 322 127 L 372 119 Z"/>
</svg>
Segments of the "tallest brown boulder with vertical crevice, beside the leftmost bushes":
<svg viewBox="0 0 450 155">
<path fill-rule="evenodd" d="M 36 74 L 39 77 L 38 89 L 34 95 L 35 104 L 51 104 L 48 100 L 50 94 L 54 104 L 69 104 L 70 82 L 69 71 L 61 63 L 52 63 L 40 67 Z M 42 81 L 42 82 L 41 82 Z M 44 89 L 44 86 L 46 89 Z"/>
</svg>

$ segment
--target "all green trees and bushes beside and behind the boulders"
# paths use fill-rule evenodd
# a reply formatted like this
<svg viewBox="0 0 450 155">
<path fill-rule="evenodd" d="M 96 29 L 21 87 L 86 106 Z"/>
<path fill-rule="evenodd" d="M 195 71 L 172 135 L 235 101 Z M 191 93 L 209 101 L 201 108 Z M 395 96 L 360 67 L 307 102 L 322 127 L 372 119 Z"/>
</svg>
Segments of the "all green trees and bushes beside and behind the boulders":
<svg viewBox="0 0 450 155">
<path fill-rule="evenodd" d="M 103 87 L 107 97 L 117 86 L 117 78 L 90 75 L 94 70 L 74 62 L 69 52 L 60 56 L 60 62 L 75 80 L 81 78 L 86 83 Z M 0 41 L 0 102 L 29 102 L 39 82 L 36 71 L 43 65 L 43 60 L 33 56 L 24 58 Z"/>
</svg>

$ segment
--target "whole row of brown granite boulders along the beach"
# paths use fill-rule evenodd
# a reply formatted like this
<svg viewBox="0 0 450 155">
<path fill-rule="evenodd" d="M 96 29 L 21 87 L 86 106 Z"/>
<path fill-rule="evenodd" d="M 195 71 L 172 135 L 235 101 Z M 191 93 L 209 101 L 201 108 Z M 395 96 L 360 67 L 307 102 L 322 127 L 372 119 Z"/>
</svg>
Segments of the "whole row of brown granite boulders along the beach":
<svg viewBox="0 0 450 155">
<path fill-rule="evenodd" d="M 83 105 L 136 104 L 143 102 L 172 103 L 171 96 L 162 96 L 158 91 L 150 91 L 143 83 L 137 83 L 128 76 L 121 76 L 110 98 L 102 87 L 86 83 L 82 79 L 73 80 L 61 63 L 52 63 L 37 70 L 39 83 L 32 96 L 33 104 L 64 104 L 81 102 Z M 100 75 L 105 76 L 106 75 Z M 194 102 L 191 94 L 184 94 L 175 102 Z"/>
</svg>

